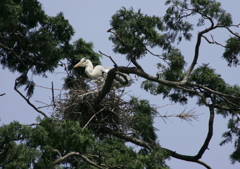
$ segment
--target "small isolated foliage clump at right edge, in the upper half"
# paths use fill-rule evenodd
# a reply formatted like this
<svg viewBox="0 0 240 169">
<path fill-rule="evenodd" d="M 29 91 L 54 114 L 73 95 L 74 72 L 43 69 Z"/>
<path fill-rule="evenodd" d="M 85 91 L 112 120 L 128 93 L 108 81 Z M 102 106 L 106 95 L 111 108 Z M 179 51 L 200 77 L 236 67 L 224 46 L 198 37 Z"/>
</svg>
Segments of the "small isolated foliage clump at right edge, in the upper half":
<svg viewBox="0 0 240 169">
<path fill-rule="evenodd" d="M 237 66 L 239 65 L 240 57 L 240 38 L 239 37 L 230 37 L 226 41 L 226 49 L 223 53 L 223 58 L 227 60 L 228 66 Z"/>
</svg>

